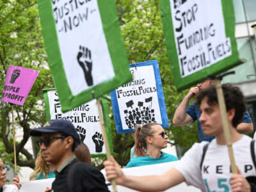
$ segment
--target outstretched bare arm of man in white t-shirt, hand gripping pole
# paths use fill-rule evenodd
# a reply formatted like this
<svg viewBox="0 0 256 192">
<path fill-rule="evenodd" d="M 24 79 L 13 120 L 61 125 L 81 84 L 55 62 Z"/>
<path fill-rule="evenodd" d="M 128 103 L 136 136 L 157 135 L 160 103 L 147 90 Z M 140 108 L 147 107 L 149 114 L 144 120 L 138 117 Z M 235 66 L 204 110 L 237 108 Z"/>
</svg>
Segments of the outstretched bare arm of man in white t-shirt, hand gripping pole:
<svg viewBox="0 0 256 192">
<path fill-rule="evenodd" d="M 113 157 L 111 158 L 112 161 L 104 162 L 107 179 L 115 179 L 117 184 L 127 188 L 138 191 L 164 191 L 185 180 L 183 175 L 175 168 L 172 168 L 169 172 L 164 173 L 163 175 L 144 177 L 124 175 L 119 164 L 116 163 Z"/>
</svg>

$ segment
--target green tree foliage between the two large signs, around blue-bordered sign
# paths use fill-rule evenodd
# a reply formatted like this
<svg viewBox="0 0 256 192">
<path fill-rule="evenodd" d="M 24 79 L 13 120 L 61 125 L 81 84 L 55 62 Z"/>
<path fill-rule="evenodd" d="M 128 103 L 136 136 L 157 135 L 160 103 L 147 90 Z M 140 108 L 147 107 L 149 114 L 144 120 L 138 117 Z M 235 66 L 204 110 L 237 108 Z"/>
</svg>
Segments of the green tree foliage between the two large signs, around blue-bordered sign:
<svg viewBox="0 0 256 192">
<path fill-rule="evenodd" d="M 175 109 L 187 91 L 177 92 L 173 84 L 163 35 L 159 1 L 116 0 L 116 8 L 130 63 L 132 61 L 158 60 L 170 122 L 168 130 L 172 132 L 169 138 L 173 140 L 173 145 L 179 145 L 186 151 L 198 141 L 198 133 L 195 124 L 184 127 L 176 127 L 172 124 Z M 115 127 L 113 122 L 112 124 L 112 127 Z M 134 145 L 134 140 L 131 134 L 116 134 L 113 128 L 113 143 L 114 156 L 118 163 L 124 166 L 129 161 L 129 149 Z"/>
</svg>

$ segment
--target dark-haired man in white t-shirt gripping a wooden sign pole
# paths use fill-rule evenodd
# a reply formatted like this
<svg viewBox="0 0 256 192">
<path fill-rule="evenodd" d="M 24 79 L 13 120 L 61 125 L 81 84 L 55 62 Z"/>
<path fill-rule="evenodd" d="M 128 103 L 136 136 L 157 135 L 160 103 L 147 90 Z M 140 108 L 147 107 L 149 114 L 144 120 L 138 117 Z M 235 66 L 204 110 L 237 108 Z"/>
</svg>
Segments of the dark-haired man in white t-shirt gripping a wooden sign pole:
<svg viewBox="0 0 256 192">
<path fill-rule="evenodd" d="M 236 125 L 243 118 L 246 109 L 244 97 L 239 88 L 230 84 L 225 84 L 222 88 L 227 105 L 228 125 L 238 174 L 230 173 L 230 159 L 217 93 L 211 86 L 199 93 L 196 102 L 201 111 L 199 121 L 202 124 L 202 130 L 205 136 L 214 135 L 214 140 L 195 143 L 184 157 L 163 175 L 128 176 L 124 175 L 115 159 L 105 161 L 104 166 L 108 180 L 115 179 L 117 184 L 138 191 L 164 191 L 184 181 L 204 192 L 256 191 L 255 143 L 252 138 L 240 134 L 236 130 Z"/>
</svg>

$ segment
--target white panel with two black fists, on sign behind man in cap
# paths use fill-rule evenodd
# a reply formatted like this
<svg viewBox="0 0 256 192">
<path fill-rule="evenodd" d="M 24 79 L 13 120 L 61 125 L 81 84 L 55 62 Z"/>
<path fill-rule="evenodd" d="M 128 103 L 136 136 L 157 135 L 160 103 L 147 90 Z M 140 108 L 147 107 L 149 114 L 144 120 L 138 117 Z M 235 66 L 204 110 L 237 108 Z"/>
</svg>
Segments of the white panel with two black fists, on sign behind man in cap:
<svg viewBox="0 0 256 192">
<path fill-rule="evenodd" d="M 61 112 L 61 105 L 56 90 L 47 92 L 51 119 L 66 119 L 76 127 L 81 140 L 88 146 L 91 154 L 106 154 L 99 122 L 97 100 L 93 99 L 86 104 L 66 113 Z"/>
</svg>

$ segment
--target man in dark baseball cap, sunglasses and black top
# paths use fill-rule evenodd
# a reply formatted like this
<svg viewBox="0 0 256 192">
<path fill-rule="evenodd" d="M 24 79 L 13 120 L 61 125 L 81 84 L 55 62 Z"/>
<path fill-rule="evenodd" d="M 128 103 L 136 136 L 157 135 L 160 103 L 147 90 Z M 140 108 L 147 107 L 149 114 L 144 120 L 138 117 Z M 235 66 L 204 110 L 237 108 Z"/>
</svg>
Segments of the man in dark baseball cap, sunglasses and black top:
<svg viewBox="0 0 256 192">
<path fill-rule="evenodd" d="M 74 125 L 67 120 L 49 120 L 44 127 L 30 131 L 38 142 L 45 161 L 54 164 L 56 179 L 45 191 L 108 191 L 105 179 L 94 166 L 79 162 L 74 150 L 80 142 Z"/>
</svg>

